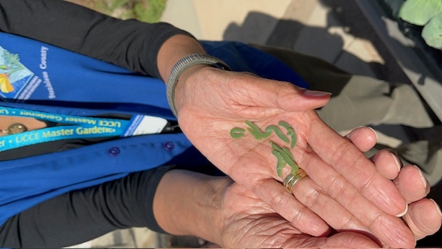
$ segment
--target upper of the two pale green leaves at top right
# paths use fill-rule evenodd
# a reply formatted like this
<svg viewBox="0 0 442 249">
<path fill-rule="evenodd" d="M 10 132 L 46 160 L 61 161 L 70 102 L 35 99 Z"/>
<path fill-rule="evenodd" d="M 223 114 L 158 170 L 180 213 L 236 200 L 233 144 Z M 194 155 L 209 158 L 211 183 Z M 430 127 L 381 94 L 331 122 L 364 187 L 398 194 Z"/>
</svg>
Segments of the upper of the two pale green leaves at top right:
<svg viewBox="0 0 442 249">
<path fill-rule="evenodd" d="M 399 17 L 410 24 L 424 26 L 441 12 L 441 0 L 407 0 L 399 10 Z"/>
</svg>

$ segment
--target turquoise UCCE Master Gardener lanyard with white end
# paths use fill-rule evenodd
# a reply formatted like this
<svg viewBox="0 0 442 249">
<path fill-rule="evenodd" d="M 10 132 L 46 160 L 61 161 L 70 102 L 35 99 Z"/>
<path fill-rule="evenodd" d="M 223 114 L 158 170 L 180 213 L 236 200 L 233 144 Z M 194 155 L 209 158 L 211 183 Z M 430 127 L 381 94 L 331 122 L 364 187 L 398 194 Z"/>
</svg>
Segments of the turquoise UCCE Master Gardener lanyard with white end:
<svg viewBox="0 0 442 249">
<path fill-rule="evenodd" d="M 121 120 L 61 115 L 9 107 L 0 107 L 0 116 L 37 118 L 39 120 L 66 124 L 0 137 L 0 151 L 55 140 L 109 136 L 126 137 L 160 133 L 167 124 L 167 120 L 164 118 L 153 116 L 135 115 L 131 120 Z"/>
</svg>

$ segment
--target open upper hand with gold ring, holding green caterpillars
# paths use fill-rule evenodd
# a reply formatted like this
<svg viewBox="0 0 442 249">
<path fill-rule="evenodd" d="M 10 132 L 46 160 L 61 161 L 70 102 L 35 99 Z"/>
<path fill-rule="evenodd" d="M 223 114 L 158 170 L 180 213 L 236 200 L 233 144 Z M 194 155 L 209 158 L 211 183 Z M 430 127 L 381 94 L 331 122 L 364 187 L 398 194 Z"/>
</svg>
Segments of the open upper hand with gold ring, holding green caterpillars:
<svg viewBox="0 0 442 249">
<path fill-rule="evenodd" d="M 188 69 L 175 89 L 178 121 L 193 145 L 300 231 L 320 236 L 329 227 L 282 187 L 268 139 L 258 141 L 248 135 L 234 140 L 229 136 L 233 127 L 244 126 L 244 120 L 258 127 L 280 120 L 291 124 L 298 136 L 291 151 L 311 180 L 388 245 L 413 247 L 414 235 L 394 216 L 406 210 L 406 201 L 394 183 L 313 110 L 328 100 L 329 95 L 322 92 L 210 67 Z M 274 136 L 271 139 L 278 141 Z M 282 176 L 289 171 L 286 167 Z M 399 235 L 401 241 L 396 239 Z"/>
</svg>

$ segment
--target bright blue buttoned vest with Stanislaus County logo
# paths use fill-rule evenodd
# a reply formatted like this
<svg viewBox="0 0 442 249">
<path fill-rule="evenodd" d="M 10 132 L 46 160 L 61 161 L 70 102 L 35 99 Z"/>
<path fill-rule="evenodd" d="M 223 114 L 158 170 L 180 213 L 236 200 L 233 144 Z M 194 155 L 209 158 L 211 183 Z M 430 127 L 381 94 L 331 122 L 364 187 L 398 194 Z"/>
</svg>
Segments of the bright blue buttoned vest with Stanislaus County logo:
<svg viewBox="0 0 442 249">
<path fill-rule="evenodd" d="M 233 71 L 307 87 L 290 68 L 236 42 L 202 42 Z M 0 109 L 61 115 L 142 114 L 175 120 L 164 82 L 32 39 L 0 33 Z M 1 110 L 0 110 L 1 111 Z M 0 225 L 54 196 L 160 165 L 208 162 L 184 134 L 119 138 L 78 149 L 0 161 Z"/>
</svg>

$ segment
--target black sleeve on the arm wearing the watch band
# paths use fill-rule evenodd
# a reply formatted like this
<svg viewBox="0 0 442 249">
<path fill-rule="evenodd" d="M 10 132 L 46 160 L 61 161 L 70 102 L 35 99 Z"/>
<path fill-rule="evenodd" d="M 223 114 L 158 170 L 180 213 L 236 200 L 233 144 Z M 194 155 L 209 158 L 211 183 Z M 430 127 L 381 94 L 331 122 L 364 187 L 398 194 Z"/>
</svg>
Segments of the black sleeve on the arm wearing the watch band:
<svg viewBox="0 0 442 249">
<path fill-rule="evenodd" d="M 123 21 L 60 0 L 0 0 L 0 20 L 2 32 L 154 77 L 160 77 L 156 60 L 162 44 L 179 34 L 191 37 L 170 24 Z"/>
</svg>

